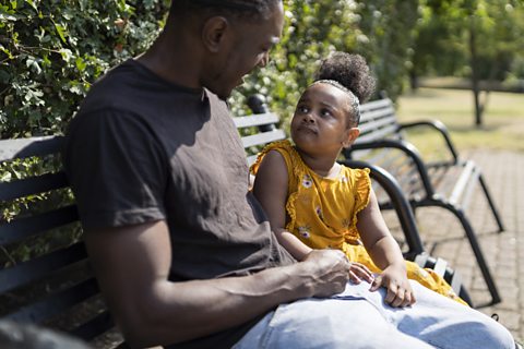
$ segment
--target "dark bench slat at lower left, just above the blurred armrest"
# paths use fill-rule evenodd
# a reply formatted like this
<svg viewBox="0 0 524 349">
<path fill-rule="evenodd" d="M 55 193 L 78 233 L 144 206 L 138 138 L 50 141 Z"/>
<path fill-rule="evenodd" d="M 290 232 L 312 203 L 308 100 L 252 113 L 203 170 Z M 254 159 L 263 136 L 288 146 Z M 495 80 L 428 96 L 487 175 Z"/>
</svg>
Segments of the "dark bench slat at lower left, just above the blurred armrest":
<svg viewBox="0 0 524 349">
<path fill-rule="evenodd" d="M 41 323 L 66 312 L 71 306 L 80 304 L 98 292 L 99 289 L 95 278 L 91 278 L 24 306 L 20 311 L 7 315 L 5 318 L 15 322 Z"/>
</svg>

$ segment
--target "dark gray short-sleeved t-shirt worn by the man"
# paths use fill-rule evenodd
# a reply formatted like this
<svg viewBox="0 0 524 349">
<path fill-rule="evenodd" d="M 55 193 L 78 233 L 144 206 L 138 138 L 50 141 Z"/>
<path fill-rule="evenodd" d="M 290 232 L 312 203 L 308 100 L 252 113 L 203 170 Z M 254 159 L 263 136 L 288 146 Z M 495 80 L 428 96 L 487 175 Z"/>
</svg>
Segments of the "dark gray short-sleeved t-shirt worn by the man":
<svg viewBox="0 0 524 349">
<path fill-rule="evenodd" d="M 85 230 L 166 220 L 172 281 L 294 263 L 248 193 L 227 105 L 209 91 L 174 85 L 127 61 L 85 98 L 64 164 Z M 229 347 L 251 325 L 188 345 Z"/>
</svg>

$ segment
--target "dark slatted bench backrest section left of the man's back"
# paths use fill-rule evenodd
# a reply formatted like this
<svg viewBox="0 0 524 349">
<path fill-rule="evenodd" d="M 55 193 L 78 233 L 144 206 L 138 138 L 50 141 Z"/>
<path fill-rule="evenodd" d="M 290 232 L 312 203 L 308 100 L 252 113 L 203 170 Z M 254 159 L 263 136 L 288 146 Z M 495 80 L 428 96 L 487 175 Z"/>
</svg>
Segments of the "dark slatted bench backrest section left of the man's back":
<svg viewBox="0 0 524 349">
<path fill-rule="evenodd" d="M 81 241 L 61 169 L 62 142 L 61 136 L 0 141 L 0 317 L 91 340 L 114 324 Z"/>
</svg>

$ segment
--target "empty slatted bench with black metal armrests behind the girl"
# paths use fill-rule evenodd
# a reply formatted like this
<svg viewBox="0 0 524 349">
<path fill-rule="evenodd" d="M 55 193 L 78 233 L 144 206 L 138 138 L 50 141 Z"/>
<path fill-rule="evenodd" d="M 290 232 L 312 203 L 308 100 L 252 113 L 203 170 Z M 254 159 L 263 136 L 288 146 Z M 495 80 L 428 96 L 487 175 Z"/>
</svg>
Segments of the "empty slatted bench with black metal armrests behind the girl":
<svg viewBox="0 0 524 349">
<path fill-rule="evenodd" d="M 344 152 L 347 159 L 373 164 L 385 169 L 398 182 L 413 209 L 439 206 L 455 215 L 473 249 L 478 266 L 491 294 L 491 304 L 501 301 L 493 278 L 480 250 L 465 210 L 476 185 L 480 184 L 499 230 L 504 230 L 497 207 L 488 192 L 480 169 L 472 160 L 458 157 L 445 125 L 440 121 L 400 123 L 391 99 L 384 98 L 361 106 L 360 136 Z M 426 127 L 442 137 L 449 158 L 425 161 L 405 136 L 405 130 Z M 389 195 L 379 195 L 383 209 L 392 208 Z"/>
</svg>

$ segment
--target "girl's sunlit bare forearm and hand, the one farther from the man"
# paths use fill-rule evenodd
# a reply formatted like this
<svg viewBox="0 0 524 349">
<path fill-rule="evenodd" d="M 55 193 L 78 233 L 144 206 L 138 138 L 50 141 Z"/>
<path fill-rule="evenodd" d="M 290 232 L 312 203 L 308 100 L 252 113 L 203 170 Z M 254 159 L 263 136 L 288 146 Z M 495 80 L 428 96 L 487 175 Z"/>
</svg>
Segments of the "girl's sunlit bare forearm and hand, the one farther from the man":
<svg viewBox="0 0 524 349">
<path fill-rule="evenodd" d="M 357 218 L 357 229 L 364 245 L 374 264 L 383 270 L 376 277 L 371 290 L 374 291 L 381 286 L 388 288 L 385 302 L 393 306 L 415 303 L 402 251 L 385 225 L 372 189 L 368 206 L 358 213 Z"/>
</svg>

